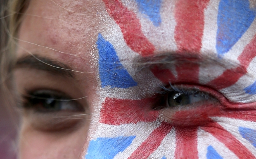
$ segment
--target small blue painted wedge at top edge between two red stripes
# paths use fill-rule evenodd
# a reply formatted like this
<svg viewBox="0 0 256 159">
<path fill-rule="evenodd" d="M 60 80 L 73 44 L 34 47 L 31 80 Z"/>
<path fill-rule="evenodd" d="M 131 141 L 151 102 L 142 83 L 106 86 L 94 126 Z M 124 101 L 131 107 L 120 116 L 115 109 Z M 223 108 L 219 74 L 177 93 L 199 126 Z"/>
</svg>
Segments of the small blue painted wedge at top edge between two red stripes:
<svg viewBox="0 0 256 159">
<path fill-rule="evenodd" d="M 161 20 L 161 3 L 162 0 L 136 0 L 139 6 L 139 12 L 146 14 L 154 26 L 159 26 L 162 22 Z"/>
</svg>

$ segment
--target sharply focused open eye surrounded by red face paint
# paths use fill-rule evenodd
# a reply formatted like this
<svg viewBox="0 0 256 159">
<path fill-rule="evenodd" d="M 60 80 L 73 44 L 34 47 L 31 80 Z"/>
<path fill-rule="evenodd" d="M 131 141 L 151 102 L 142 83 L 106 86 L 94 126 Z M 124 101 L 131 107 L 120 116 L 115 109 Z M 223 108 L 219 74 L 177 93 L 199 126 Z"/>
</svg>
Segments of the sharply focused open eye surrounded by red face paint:
<svg viewBox="0 0 256 159">
<path fill-rule="evenodd" d="M 206 100 L 206 96 L 200 93 L 171 91 L 168 93 L 167 104 L 173 106 L 185 106 Z"/>
</svg>

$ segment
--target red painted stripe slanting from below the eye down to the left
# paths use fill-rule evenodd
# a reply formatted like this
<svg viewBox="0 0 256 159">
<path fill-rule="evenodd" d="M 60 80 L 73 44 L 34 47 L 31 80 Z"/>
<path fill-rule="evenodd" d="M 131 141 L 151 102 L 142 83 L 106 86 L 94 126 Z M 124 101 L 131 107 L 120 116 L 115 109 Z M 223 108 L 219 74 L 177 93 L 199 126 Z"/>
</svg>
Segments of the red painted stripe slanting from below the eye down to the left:
<svg viewBox="0 0 256 159">
<path fill-rule="evenodd" d="M 161 144 L 165 136 L 171 131 L 172 126 L 167 122 L 154 129 L 149 137 L 128 157 L 128 159 L 147 159 Z"/>
</svg>

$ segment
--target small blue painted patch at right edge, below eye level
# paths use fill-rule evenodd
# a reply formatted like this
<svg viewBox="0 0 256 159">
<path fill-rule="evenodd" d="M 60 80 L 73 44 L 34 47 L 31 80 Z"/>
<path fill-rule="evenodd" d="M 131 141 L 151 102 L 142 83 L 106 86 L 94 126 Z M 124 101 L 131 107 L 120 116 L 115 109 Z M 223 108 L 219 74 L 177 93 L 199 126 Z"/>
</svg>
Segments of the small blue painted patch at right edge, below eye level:
<svg viewBox="0 0 256 159">
<path fill-rule="evenodd" d="M 239 127 L 239 133 L 256 148 L 256 130 L 246 127 Z"/>
</svg>

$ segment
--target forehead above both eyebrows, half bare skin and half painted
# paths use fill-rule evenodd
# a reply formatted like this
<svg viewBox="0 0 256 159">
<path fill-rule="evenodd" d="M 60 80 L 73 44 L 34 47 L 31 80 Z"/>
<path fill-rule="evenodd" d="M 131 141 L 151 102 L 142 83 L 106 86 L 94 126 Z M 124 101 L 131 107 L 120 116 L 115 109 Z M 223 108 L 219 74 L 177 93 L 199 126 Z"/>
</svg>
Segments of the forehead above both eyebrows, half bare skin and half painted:
<svg viewBox="0 0 256 159">
<path fill-rule="evenodd" d="M 254 18 L 254 2 L 249 0 L 35 0 L 25 18 L 29 23 L 21 29 L 30 28 L 47 45 L 58 47 L 61 41 L 62 50 L 78 46 L 76 54 L 95 46 L 100 33 L 116 49 L 141 55 L 172 51 L 225 55 L 235 44 L 241 46 L 239 39 L 244 44 L 250 41 Z"/>
</svg>

